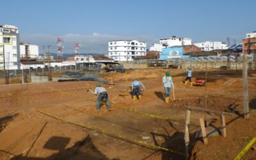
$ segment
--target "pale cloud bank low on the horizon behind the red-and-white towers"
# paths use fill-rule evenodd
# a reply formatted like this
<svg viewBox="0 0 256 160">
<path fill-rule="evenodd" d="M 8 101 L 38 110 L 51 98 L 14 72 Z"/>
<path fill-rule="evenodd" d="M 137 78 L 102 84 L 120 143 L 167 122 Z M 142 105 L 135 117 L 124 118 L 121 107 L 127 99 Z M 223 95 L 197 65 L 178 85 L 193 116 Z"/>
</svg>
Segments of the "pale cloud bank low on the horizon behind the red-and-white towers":
<svg viewBox="0 0 256 160">
<path fill-rule="evenodd" d="M 68 33 L 62 35 L 64 53 L 73 53 L 74 44 L 81 44 L 81 53 L 108 53 L 108 42 L 111 40 L 140 40 L 147 42 L 149 48 L 151 44 L 158 43 L 159 38 L 154 36 L 118 36 L 118 35 L 104 35 L 100 33 L 92 33 L 92 35 L 79 35 Z M 51 45 L 51 52 L 56 52 L 56 40 L 57 36 L 44 35 L 44 34 L 20 34 L 20 41 L 24 41 L 29 44 L 39 45 L 40 53 L 42 53 L 43 45 Z"/>
</svg>

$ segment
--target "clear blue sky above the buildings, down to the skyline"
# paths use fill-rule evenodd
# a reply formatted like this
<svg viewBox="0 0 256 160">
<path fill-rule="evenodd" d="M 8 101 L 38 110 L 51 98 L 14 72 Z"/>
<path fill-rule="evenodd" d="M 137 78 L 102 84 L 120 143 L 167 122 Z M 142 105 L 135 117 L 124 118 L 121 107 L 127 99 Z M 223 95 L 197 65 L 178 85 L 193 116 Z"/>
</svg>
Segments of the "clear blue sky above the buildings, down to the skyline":
<svg viewBox="0 0 256 160">
<path fill-rule="evenodd" d="M 193 42 L 241 42 L 256 31 L 255 0 L 8 0 L 0 24 L 19 28 L 20 39 L 52 45 L 64 39 L 64 52 L 108 52 L 108 41 L 136 39 L 148 47 L 159 38 L 182 36 Z M 254 12 L 254 13 L 253 13 Z"/>
</svg>

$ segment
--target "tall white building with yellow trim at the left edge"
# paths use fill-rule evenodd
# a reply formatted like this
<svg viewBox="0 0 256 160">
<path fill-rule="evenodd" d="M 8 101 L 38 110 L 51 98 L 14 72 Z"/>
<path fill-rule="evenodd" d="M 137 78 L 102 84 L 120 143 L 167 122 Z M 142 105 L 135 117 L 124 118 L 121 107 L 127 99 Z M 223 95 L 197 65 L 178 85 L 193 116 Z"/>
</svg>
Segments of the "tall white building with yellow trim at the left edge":
<svg viewBox="0 0 256 160">
<path fill-rule="evenodd" d="M 0 26 L 0 70 L 20 69 L 20 36 L 15 26 Z"/>
</svg>

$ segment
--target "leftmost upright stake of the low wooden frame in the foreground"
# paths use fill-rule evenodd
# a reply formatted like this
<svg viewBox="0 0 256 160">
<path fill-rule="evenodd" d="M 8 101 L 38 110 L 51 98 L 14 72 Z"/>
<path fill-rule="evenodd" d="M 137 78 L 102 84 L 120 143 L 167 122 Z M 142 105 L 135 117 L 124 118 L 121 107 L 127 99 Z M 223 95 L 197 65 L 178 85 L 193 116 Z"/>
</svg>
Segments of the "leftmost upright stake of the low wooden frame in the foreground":
<svg viewBox="0 0 256 160">
<path fill-rule="evenodd" d="M 186 120 L 185 120 L 185 145 L 186 145 L 186 159 L 188 159 L 189 154 L 189 122 L 190 122 L 190 113 L 191 111 L 189 109 L 186 109 Z"/>
</svg>

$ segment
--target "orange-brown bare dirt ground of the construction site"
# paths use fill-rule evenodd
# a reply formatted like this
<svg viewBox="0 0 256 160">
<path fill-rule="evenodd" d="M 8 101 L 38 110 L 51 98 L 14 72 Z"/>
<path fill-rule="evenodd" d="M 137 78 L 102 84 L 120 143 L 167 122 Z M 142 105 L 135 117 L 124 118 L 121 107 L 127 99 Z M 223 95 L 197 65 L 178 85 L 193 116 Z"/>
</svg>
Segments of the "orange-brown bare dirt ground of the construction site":
<svg viewBox="0 0 256 160">
<path fill-rule="evenodd" d="M 115 83 L 102 84 L 108 90 L 111 111 L 105 105 L 96 111 L 97 97 L 87 91 L 94 90 L 97 82 L 93 81 L 0 86 L 0 159 L 185 159 L 184 107 L 205 108 L 205 95 L 208 109 L 230 111 L 229 107 L 236 113 L 225 116 L 227 137 L 209 136 L 204 145 L 196 138 L 199 118 L 206 117 L 207 122 L 216 118 L 209 125 L 218 128 L 220 116 L 192 111 L 190 159 L 234 159 L 256 136 L 255 71 L 248 71 L 249 119 L 242 117 L 241 70 L 208 70 L 206 90 L 184 85 L 184 70 L 170 70 L 175 101 L 168 104 L 163 95 L 164 72 L 104 73 L 105 80 Z M 141 100 L 132 100 L 127 91 L 134 78 L 146 86 Z M 205 71 L 195 70 L 192 79 L 205 79 Z M 170 97 L 173 100 L 173 92 Z M 169 148 L 169 152 L 142 143 Z M 256 151 L 250 149 L 243 159 L 255 157 Z"/>
</svg>

